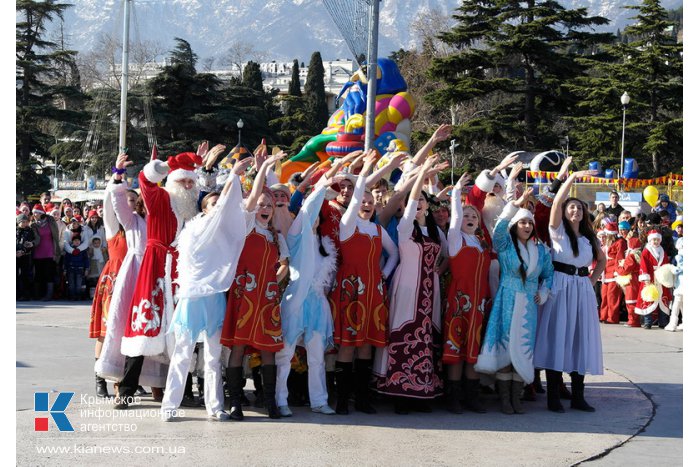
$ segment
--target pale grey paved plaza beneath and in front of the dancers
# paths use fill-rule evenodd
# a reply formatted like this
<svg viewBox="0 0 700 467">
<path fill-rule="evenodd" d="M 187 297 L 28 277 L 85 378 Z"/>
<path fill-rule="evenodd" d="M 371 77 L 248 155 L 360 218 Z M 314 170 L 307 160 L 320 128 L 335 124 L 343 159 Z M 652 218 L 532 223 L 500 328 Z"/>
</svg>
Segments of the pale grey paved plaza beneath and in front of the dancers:
<svg viewBox="0 0 700 467">
<path fill-rule="evenodd" d="M 89 307 L 75 303 L 17 304 L 17 463 L 19 465 L 681 465 L 683 333 L 602 328 L 604 376 L 587 377 L 593 414 L 548 412 L 543 396 L 528 413 L 324 416 L 297 408 L 270 420 L 258 409 L 245 422 L 205 421 L 185 409 L 174 423 L 159 420 L 159 404 L 144 398 L 131 418 L 99 418 L 110 409 L 90 400 L 94 341 Z M 249 385 L 250 386 L 250 385 Z M 75 392 L 66 414 L 76 429 L 34 431 L 35 392 Z M 87 399 L 81 403 L 81 395 Z M 89 396 L 89 398 L 88 398 Z M 50 396 L 53 403 L 56 394 Z M 566 406 L 566 405 L 565 405 Z M 80 431 L 89 430 L 89 431 Z M 126 431 L 126 430 L 129 431 Z M 117 430 L 117 431 L 115 431 Z"/>
</svg>

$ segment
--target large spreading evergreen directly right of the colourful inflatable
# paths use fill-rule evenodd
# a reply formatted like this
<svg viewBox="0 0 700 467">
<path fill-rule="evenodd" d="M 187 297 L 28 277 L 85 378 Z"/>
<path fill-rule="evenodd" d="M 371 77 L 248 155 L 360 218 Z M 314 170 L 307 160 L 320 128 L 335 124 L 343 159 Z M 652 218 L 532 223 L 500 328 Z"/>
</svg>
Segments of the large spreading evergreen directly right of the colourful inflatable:
<svg viewBox="0 0 700 467">
<path fill-rule="evenodd" d="M 475 118 L 455 134 L 467 146 L 491 141 L 505 150 L 556 144 L 559 116 L 573 105 L 562 84 L 584 71 L 576 55 L 613 38 L 582 29 L 608 21 L 546 0 L 465 0 L 454 18 L 440 39 L 458 52 L 433 61 L 431 76 L 446 86 L 430 100 L 475 104 Z"/>
</svg>

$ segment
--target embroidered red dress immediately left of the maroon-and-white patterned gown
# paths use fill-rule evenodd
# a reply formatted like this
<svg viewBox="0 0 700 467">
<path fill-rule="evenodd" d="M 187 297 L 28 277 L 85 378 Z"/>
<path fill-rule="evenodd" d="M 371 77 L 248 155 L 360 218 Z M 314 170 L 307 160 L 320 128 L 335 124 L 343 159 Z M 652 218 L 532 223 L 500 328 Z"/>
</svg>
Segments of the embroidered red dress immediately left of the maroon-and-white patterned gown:
<svg viewBox="0 0 700 467">
<path fill-rule="evenodd" d="M 379 261 L 382 256 L 382 229 L 377 235 L 360 233 L 340 242 L 342 262 L 329 296 L 336 344 L 384 347 L 389 310 L 386 286 Z"/>
</svg>

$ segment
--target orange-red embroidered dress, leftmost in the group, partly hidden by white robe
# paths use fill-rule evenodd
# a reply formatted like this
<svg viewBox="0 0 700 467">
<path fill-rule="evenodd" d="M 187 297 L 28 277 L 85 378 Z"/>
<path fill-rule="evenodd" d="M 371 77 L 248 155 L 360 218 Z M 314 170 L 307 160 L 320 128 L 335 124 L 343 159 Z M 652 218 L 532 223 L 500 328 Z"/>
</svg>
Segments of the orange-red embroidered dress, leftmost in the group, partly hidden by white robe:
<svg viewBox="0 0 700 467">
<path fill-rule="evenodd" d="M 95 297 L 90 310 L 90 337 L 93 339 L 104 337 L 107 332 L 107 317 L 114 292 L 114 281 L 117 279 L 127 249 L 126 235 L 123 230 L 119 230 L 116 235 L 107 240 L 109 259 L 97 279 Z"/>
</svg>

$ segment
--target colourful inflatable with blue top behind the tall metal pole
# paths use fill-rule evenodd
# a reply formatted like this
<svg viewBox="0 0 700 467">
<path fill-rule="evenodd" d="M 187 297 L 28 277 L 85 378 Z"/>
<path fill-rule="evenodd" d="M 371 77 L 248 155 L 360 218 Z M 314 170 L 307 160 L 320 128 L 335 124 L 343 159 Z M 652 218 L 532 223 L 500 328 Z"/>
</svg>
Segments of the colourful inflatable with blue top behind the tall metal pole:
<svg viewBox="0 0 700 467">
<path fill-rule="evenodd" d="M 298 154 L 282 164 L 282 182 L 314 162 L 326 162 L 331 157 L 342 157 L 364 148 L 367 80 L 362 69 L 343 86 L 336 103 L 343 95 L 342 106 L 330 116 L 321 134 L 309 139 Z M 405 147 L 410 146 L 411 117 L 415 107 L 398 65 L 388 58 L 379 58 L 373 145 L 382 156 L 396 146 L 396 143 L 392 145 L 396 140 L 403 142 Z"/>
</svg>

